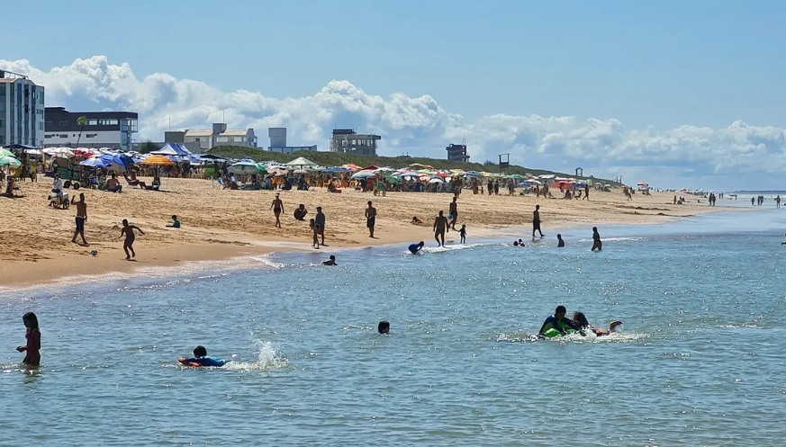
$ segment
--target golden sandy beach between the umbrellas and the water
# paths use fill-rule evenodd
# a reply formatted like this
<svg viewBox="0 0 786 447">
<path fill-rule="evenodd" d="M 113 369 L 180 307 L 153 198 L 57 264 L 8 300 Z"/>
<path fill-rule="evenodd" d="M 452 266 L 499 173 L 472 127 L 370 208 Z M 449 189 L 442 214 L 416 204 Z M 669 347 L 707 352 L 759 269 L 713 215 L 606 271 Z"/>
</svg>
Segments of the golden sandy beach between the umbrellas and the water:
<svg viewBox="0 0 786 447">
<path fill-rule="evenodd" d="M 275 228 L 270 210 L 275 192 L 230 191 L 211 181 L 165 178 L 162 191 L 124 189 L 121 193 L 97 190 L 85 192 L 89 246 L 71 243 L 76 208 L 53 209 L 46 200 L 51 179 L 40 176 L 38 183 L 18 183 L 22 198 L 0 199 L 4 231 L 0 233 L 0 277 L 2 286 L 41 285 L 62 277 L 99 273 L 132 273 L 140 268 L 168 267 L 194 261 L 224 260 L 273 251 L 313 250 L 308 219 L 321 206 L 327 216 L 328 246 L 332 249 L 411 243 L 433 243 L 431 225 L 438 210 L 447 215 L 452 194 L 429 192 L 388 192 L 385 197 L 372 192 L 329 193 L 324 189 L 281 192 L 285 209 L 283 228 Z M 149 179 L 143 179 L 148 180 Z M 77 194 L 78 194 L 77 192 Z M 68 190 L 74 194 L 74 190 Z M 541 206 L 541 219 L 548 228 L 586 224 L 648 224 L 690 217 L 704 212 L 739 210 L 709 207 L 706 201 L 685 197 L 684 205 L 673 205 L 673 193 L 635 194 L 627 201 L 621 190 L 592 192 L 591 201 L 536 199 L 534 195 L 473 195 L 462 192 L 458 200 L 459 224 L 467 226 L 468 241 L 490 236 L 499 228 L 529 226 L 532 210 Z M 378 216 L 376 238 L 368 237 L 364 210 L 374 201 Z M 293 218 L 303 203 L 306 221 Z M 722 202 L 721 202 L 722 204 Z M 167 228 L 171 215 L 181 219 L 182 228 Z M 417 216 L 423 225 L 413 225 Z M 145 231 L 134 244 L 137 259 L 125 261 L 120 226 L 129 219 Z M 526 237 L 522 234 L 521 237 Z M 456 240 L 456 232 L 447 240 Z M 91 255 L 96 250 L 97 255 Z"/>
</svg>

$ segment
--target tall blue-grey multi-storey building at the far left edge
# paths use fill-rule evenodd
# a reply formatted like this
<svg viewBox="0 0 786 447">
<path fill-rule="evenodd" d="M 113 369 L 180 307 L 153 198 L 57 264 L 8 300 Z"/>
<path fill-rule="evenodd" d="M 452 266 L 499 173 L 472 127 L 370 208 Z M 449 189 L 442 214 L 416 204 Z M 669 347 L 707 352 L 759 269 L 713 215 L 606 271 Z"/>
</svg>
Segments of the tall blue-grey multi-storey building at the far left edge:
<svg viewBox="0 0 786 447">
<path fill-rule="evenodd" d="M 0 146 L 44 144 L 44 88 L 0 70 Z"/>
</svg>

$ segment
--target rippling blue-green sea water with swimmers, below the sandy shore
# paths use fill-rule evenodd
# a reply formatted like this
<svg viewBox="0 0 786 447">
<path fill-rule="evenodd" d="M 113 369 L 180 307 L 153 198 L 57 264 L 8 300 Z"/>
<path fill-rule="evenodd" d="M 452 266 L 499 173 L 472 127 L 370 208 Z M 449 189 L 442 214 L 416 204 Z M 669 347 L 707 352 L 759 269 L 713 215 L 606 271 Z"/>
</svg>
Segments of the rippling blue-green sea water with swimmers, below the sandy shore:
<svg viewBox="0 0 786 447">
<path fill-rule="evenodd" d="M 602 253 L 545 228 L 5 294 L 0 445 L 782 445 L 783 228 L 606 227 Z M 624 332 L 536 340 L 559 304 Z M 28 310 L 37 371 L 14 352 Z M 179 366 L 197 344 L 232 362 Z"/>
</svg>

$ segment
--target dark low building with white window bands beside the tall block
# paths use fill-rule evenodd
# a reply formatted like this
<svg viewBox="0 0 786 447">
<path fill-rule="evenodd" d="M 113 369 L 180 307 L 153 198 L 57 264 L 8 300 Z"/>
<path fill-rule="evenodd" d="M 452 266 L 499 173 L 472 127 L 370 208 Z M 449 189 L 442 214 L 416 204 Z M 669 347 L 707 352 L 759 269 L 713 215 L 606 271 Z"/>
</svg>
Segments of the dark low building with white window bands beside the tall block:
<svg viewBox="0 0 786 447">
<path fill-rule="evenodd" d="M 83 116 L 84 128 L 77 123 Z M 135 112 L 68 112 L 65 107 L 47 107 L 44 147 L 131 150 L 133 134 L 139 132 L 138 121 Z"/>
</svg>

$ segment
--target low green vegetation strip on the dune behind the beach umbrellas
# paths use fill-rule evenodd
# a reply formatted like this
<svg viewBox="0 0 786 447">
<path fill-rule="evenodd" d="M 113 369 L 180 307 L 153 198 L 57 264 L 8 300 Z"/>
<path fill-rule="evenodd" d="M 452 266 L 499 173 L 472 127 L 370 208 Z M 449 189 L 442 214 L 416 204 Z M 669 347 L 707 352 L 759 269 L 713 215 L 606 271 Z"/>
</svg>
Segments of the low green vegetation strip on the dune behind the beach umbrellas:
<svg viewBox="0 0 786 447">
<path fill-rule="evenodd" d="M 298 151 L 294 154 L 280 154 L 277 152 L 267 152 L 258 148 L 242 148 L 237 146 L 220 146 L 217 148 L 212 148 L 208 151 L 208 154 L 234 159 L 248 157 L 256 162 L 275 161 L 279 163 L 287 163 L 294 160 L 298 156 L 303 156 L 321 166 L 355 164 L 360 167 L 376 165 L 401 168 L 413 163 L 420 163 L 421 165 L 434 166 L 435 169 L 463 169 L 465 171 L 486 171 L 492 173 L 500 172 L 499 166 L 492 163 L 491 161 L 486 161 L 482 165 L 480 163 L 463 163 L 458 161 L 439 160 L 436 158 L 424 158 L 418 156 L 352 156 L 348 154 L 342 154 L 340 152 L 313 152 L 308 150 Z M 506 172 L 507 174 L 557 174 L 564 177 L 575 176 L 575 173 L 555 173 L 552 171 L 533 169 L 519 165 L 510 165 L 510 168 L 508 168 Z M 603 183 L 617 184 L 612 180 L 600 178 L 595 180 Z"/>
</svg>

